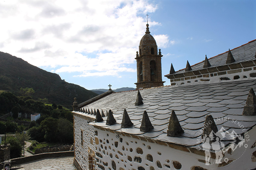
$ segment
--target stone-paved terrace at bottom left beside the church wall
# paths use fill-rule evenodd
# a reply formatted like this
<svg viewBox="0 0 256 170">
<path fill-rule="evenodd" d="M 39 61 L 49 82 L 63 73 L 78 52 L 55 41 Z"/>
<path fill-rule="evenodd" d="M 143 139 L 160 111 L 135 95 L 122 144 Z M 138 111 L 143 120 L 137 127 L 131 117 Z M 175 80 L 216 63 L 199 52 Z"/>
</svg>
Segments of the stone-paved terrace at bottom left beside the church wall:
<svg viewBox="0 0 256 170">
<path fill-rule="evenodd" d="M 17 167 L 24 167 L 19 170 L 76 170 L 73 166 L 73 158 L 73 156 L 42 158 L 19 164 Z M 13 165 L 12 168 L 15 168 L 15 165 Z"/>
</svg>

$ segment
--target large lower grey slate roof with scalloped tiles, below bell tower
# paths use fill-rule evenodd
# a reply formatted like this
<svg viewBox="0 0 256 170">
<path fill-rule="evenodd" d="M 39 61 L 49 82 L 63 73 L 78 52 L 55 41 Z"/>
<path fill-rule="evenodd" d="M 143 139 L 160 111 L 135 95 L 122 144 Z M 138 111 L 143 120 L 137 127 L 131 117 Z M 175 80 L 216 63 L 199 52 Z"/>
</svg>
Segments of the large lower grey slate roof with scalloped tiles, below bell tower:
<svg viewBox="0 0 256 170">
<path fill-rule="evenodd" d="M 250 130 L 255 126 L 256 116 L 242 115 L 250 88 L 256 90 L 256 80 L 174 87 L 162 86 L 140 90 L 144 103 L 142 106 L 135 106 L 137 91 L 134 90 L 109 94 L 84 106 L 84 108 L 90 110 L 99 109 L 100 111 L 102 109 L 105 115 L 106 110 L 109 109 L 114 113 L 116 124 L 106 125 L 107 117 L 104 117 L 102 122 L 90 123 L 95 126 L 154 140 L 195 147 L 201 144 L 198 139 L 201 139 L 201 129 L 204 126 L 206 115 L 212 115 L 216 120 L 218 130 L 223 127 L 227 130 L 225 133 L 232 133 L 234 130 L 237 134 L 241 134 L 245 131 L 239 128 L 239 124 L 217 118 L 226 117 L 229 120 L 237 120 L 246 130 Z M 124 109 L 126 109 L 133 122 L 133 126 L 129 128 L 121 128 Z M 147 133 L 140 131 L 142 114 L 145 110 L 154 126 L 154 129 Z M 179 137 L 167 136 L 172 110 L 175 111 L 184 130 L 184 133 Z M 95 118 L 94 115 L 82 112 L 75 113 Z"/>
</svg>

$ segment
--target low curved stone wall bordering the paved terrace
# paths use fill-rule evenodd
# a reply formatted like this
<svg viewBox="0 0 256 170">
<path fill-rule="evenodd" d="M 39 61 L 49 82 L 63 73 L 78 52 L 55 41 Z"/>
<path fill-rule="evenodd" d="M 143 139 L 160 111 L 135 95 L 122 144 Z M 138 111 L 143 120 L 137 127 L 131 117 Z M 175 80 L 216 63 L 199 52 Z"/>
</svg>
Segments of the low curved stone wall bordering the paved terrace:
<svg viewBox="0 0 256 170">
<path fill-rule="evenodd" d="M 21 163 L 30 162 L 33 160 L 38 160 L 41 158 L 65 157 L 65 156 L 74 156 L 74 151 L 42 153 L 42 154 L 36 154 L 36 155 L 27 156 L 27 157 L 14 158 L 14 159 L 11 159 L 11 161 L 16 162 L 17 164 L 21 164 Z"/>
</svg>

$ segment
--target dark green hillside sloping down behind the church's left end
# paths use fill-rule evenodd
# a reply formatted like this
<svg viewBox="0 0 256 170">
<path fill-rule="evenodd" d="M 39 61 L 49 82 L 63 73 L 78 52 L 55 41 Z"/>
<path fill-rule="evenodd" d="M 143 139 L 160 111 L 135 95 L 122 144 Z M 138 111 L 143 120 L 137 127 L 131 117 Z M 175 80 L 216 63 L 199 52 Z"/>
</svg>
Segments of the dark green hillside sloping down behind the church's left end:
<svg viewBox="0 0 256 170">
<path fill-rule="evenodd" d="M 49 102 L 71 108 L 73 98 L 78 103 L 98 94 L 79 85 L 65 82 L 56 73 L 50 73 L 8 53 L 0 52 L 0 91 L 19 95 L 20 88 L 33 88 L 34 99 L 47 98 Z"/>
</svg>

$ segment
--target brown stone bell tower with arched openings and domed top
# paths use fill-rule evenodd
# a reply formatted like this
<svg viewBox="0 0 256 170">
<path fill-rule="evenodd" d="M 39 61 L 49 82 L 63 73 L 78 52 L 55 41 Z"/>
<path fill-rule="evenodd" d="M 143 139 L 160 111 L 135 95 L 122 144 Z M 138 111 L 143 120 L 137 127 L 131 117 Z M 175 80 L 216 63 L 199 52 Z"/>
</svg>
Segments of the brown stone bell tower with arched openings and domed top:
<svg viewBox="0 0 256 170">
<path fill-rule="evenodd" d="M 137 83 L 136 87 L 150 88 L 164 85 L 162 81 L 161 49 L 157 50 L 154 37 L 150 34 L 148 24 L 145 35 L 139 43 L 139 52 L 136 54 Z"/>
</svg>

